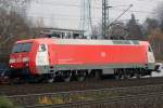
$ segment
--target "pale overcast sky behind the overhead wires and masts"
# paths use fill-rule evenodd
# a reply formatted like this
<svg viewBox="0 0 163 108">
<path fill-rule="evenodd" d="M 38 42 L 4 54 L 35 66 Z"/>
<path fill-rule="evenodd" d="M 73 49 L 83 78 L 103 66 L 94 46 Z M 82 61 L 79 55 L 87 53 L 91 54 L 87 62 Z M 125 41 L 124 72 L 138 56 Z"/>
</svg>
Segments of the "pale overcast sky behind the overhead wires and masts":
<svg viewBox="0 0 163 108">
<path fill-rule="evenodd" d="M 110 22 L 114 21 L 130 4 L 133 8 L 120 19 L 130 19 L 134 13 L 139 23 L 146 17 L 155 15 L 154 9 L 162 0 L 108 0 L 110 9 Z M 91 0 L 92 25 L 101 23 L 102 0 Z M 82 29 L 82 0 L 36 0 L 28 9 L 28 17 L 33 22 L 43 22 L 46 27 Z"/>
</svg>

